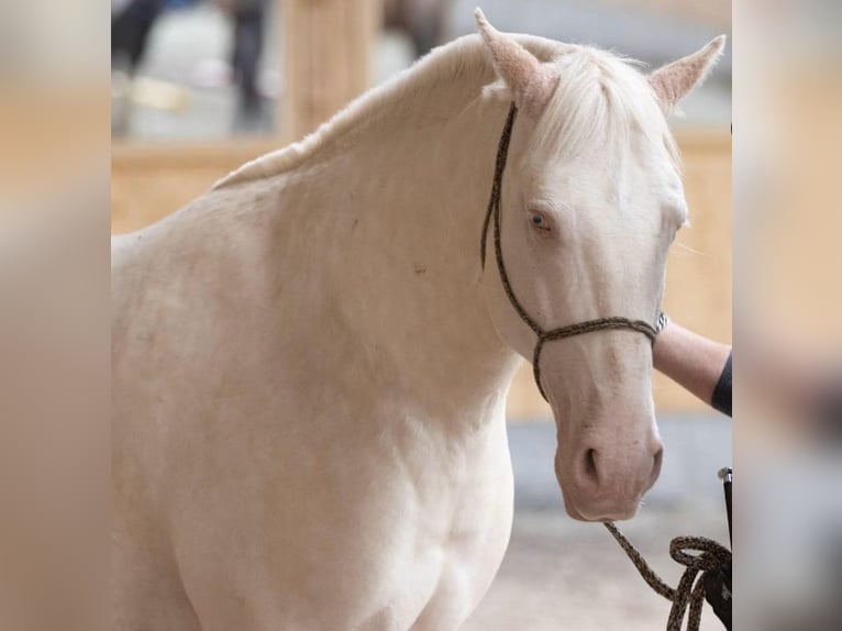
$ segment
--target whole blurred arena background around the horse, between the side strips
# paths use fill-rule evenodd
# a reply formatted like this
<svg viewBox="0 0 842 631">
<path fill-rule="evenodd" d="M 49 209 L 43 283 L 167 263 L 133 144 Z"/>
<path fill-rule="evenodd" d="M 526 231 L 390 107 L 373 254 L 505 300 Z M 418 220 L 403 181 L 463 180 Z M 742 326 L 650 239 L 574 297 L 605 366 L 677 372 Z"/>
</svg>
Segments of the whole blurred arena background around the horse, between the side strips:
<svg viewBox="0 0 842 631">
<path fill-rule="evenodd" d="M 433 46 L 475 32 L 476 0 L 113 0 L 112 232 L 147 225 L 247 159 L 299 140 Z M 651 67 L 731 34 L 721 0 L 485 0 L 500 30 L 613 48 Z M 731 340 L 731 48 L 673 120 L 693 226 L 669 263 L 666 310 Z M 624 529 L 675 585 L 669 540 L 728 542 L 720 467 L 731 424 L 655 381 L 666 455 Z M 663 628 L 668 604 L 605 529 L 564 513 L 555 425 L 524 366 L 509 398 L 511 545 L 468 631 Z M 719 622 L 708 611 L 705 629 Z"/>
</svg>

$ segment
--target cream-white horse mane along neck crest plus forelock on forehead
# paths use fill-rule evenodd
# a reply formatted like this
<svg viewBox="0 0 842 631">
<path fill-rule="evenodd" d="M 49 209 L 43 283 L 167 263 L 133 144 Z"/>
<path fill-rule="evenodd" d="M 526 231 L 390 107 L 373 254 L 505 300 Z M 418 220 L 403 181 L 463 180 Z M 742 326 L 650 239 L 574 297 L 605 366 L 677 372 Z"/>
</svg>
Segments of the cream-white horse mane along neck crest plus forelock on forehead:
<svg viewBox="0 0 842 631">
<path fill-rule="evenodd" d="M 542 117 L 544 129 L 538 130 L 535 142 L 557 142 L 561 133 L 564 146 L 575 150 L 595 140 L 602 142 L 611 133 L 613 137 L 627 137 L 630 123 L 636 122 L 639 129 L 654 130 L 663 135 L 671 158 L 678 165 L 675 141 L 652 98 L 649 82 L 635 68 L 639 63 L 590 46 L 563 44 L 533 35 L 512 36 L 541 62 L 556 64 L 563 77 L 545 112 L 551 115 Z M 411 107 L 436 87 L 441 89 L 443 85 L 468 79 L 486 84 L 495 79 L 490 57 L 476 34 L 434 48 L 409 68 L 356 98 L 303 140 L 244 164 L 219 180 L 213 189 L 295 169 L 340 139 L 376 120 L 383 114 L 384 106 L 402 111 L 401 104 Z M 486 95 L 505 92 L 499 82 L 487 87 Z M 606 125 L 607 120 L 613 123 Z M 560 125 L 558 121 L 564 122 Z"/>
</svg>

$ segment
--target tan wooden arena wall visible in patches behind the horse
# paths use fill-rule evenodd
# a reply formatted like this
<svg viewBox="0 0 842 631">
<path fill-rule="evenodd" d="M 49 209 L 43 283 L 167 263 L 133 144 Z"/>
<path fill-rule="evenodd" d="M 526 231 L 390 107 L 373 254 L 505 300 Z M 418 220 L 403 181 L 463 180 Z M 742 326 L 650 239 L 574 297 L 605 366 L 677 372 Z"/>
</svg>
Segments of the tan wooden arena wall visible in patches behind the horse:
<svg viewBox="0 0 842 631">
<path fill-rule="evenodd" d="M 731 340 L 731 136 L 728 130 L 678 134 L 693 225 L 679 233 L 669 261 L 666 310 L 677 322 Z M 193 146 L 123 145 L 112 150 L 112 233 L 148 225 L 204 192 L 242 163 L 276 148 L 272 141 Z M 705 409 L 656 375 L 661 411 Z M 547 413 L 524 364 L 509 398 L 510 414 Z"/>
</svg>

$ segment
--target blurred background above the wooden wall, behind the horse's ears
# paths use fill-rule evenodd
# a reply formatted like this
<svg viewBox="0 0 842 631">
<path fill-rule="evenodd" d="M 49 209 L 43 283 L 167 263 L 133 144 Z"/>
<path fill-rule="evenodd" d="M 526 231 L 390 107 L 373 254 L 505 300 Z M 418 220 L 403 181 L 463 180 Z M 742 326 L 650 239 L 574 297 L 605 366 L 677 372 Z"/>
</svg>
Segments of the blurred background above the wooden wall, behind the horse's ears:
<svg viewBox="0 0 842 631">
<path fill-rule="evenodd" d="M 295 139 L 307 124 L 285 120 L 284 100 L 302 98 L 289 91 L 297 80 L 317 80 L 306 75 L 321 74 L 318 80 L 326 84 L 307 88 L 318 95 L 308 104 L 315 110 L 308 120 L 312 124 L 433 46 L 474 32 L 474 0 L 354 0 L 332 9 L 330 2 L 308 4 L 112 0 L 114 133 L 207 141 L 291 125 L 289 137 Z M 502 29 L 594 43 L 650 64 L 686 54 L 690 42 L 729 32 L 731 24 L 730 2 L 721 0 L 488 0 L 483 8 Z M 333 41 L 334 54 L 348 57 L 313 53 L 309 67 L 296 67 L 304 63 L 301 47 L 319 46 L 311 37 Z M 686 121 L 730 124 L 730 80 L 727 55 L 714 79 L 686 103 Z"/>
</svg>

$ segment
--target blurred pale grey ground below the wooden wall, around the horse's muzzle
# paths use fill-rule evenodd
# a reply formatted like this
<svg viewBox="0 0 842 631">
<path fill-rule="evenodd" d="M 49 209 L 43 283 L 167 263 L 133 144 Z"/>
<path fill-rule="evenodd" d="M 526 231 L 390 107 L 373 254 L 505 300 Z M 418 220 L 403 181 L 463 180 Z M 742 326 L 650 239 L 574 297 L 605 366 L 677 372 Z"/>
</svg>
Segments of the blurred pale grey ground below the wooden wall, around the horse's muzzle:
<svg viewBox="0 0 842 631">
<path fill-rule="evenodd" d="M 683 567 L 668 555 L 683 534 L 728 544 L 717 472 L 731 463 L 731 422 L 722 417 L 658 421 L 664 467 L 638 517 L 620 524 L 655 571 L 675 586 Z M 552 422 L 509 428 L 516 484 L 511 542 L 491 589 L 463 631 L 652 631 L 664 629 L 666 600 L 636 574 L 599 524 L 568 518 L 553 473 Z M 702 630 L 722 626 L 707 607 Z"/>
</svg>

